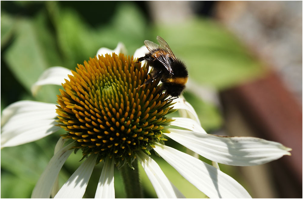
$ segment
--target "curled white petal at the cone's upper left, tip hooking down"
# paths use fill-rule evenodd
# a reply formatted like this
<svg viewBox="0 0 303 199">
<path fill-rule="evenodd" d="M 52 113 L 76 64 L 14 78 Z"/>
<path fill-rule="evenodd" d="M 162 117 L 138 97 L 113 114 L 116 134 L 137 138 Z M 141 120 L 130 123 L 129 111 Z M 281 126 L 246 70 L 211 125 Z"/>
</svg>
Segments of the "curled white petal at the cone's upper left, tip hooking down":
<svg viewBox="0 0 303 199">
<path fill-rule="evenodd" d="M 53 66 L 46 69 L 39 77 L 38 81 L 32 85 L 31 88 L 32 95 L 36 95 L 38 89 L 42 85 L 46 85 L 46 84 L 61 85 L 62 83 L 65 83 L 64 79 L 69 79 L 67 76 L 68 74 L 72 75 L 71 70 L 61 66 Z"/>
</svg>

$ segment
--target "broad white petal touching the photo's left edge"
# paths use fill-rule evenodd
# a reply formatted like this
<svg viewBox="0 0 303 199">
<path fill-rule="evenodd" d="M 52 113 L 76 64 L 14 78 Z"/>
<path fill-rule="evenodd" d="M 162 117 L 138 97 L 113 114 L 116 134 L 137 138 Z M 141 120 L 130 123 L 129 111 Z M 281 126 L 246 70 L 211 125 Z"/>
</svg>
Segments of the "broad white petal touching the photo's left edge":
<svg viewBox="0 0 303 199">
<path fill-rule="evenodd" d="M 61 129 L 55 126 L 56 105 L 18 101 L 2 111 L 1 147 L 39 140 Z"/>
</svg>

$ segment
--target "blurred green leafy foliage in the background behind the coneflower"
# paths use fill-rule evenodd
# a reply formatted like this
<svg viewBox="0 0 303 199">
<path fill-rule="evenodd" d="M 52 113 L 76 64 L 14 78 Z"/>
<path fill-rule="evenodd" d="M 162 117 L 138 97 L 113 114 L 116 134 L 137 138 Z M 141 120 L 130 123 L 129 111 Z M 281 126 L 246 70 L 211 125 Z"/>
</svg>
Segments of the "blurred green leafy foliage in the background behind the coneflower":
<svg viewBox="0 0 303 199">
<path fill-rule="evenodd" d="M 260 63 L 220 24 L 200 17 L 180 24 L 153 24 L 142 5 L 1 2 L 1 111 L 24 99 L 55 103 L 58 86 L 43 86 L 36 97 L 30 94 L 32 84 L 48 67 L 75 69 L 77 63 L 95 56 L 100 47 L 114 49 L 118 42 L 123 42 L 132 55 L 144 40 L 155 42 L 157 35 L 165 38 L 175 55 L 185 61 L 190 79 L 197 84 L 224 89 L 262 73 Z M 185 97 L 196 109 L 202 127 L 207 131 L 222 127 L 218 107 L 202 101 L 195 93 L 185 93 Z M 1 197 L 30 197 L 60 134 L 1 150 Z M 167 143 L 185 150 L 177 143 Z M 164 160 L 154 158 L 186 197 L 205 197 Z M 60 185 L 81 164 L 80 159 L 80 153 L 69 157 L 60 172 Z M 101 170 L 102 164 L 94 169 L 85 197 L 94 197 Z M 232 173 L 231 167 L 223 166 L 223 170 Z M 156 197 L 144 171 L 140 174 L 145 196 Z M 115 171 L 115 191 L 116 197 L 125 197 L 118 171 Z"/>
</svg>

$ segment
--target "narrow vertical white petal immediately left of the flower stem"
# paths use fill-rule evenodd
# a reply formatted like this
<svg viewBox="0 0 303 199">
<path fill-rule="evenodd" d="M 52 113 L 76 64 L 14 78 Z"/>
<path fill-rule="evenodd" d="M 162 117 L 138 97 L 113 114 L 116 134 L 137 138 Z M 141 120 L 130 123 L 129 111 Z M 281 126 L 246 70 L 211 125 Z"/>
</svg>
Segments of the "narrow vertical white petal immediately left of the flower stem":
<svg viewBox="0 0 303 199">
<path fill-rule="evenodd" d="M 105 159 L 95 198 L 115 198 L 113 158 Z"/>
</svg>

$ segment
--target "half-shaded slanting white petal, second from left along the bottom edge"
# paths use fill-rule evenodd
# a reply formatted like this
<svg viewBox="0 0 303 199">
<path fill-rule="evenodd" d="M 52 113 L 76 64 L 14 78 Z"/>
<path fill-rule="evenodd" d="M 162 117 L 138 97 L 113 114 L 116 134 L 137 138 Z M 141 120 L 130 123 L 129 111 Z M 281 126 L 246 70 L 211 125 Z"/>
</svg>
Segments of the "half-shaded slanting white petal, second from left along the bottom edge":
<svg viewBox="0 0 303 199">
<path fill-rule="evenodd" d="M 97 155 L 90 155 L 65 182 L 54 198 L 82 198 L 96 164 Z"/>
</svg>

